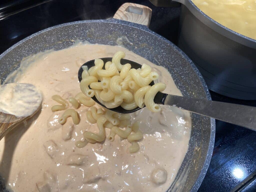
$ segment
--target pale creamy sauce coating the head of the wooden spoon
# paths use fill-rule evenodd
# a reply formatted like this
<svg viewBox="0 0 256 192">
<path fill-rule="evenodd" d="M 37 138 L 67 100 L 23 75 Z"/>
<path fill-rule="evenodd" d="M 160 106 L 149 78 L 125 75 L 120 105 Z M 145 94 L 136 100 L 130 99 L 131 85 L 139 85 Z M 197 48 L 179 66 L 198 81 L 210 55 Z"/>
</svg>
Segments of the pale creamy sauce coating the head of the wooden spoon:
<svg viewBox="0 0 256 192">
<path fill-rule="evenodd" d="M 42 95 L 36 87 L 26 83 L 8 83 L 0 87 L 0 112 L 29 117 L 42 102 Z"/>
</svg>

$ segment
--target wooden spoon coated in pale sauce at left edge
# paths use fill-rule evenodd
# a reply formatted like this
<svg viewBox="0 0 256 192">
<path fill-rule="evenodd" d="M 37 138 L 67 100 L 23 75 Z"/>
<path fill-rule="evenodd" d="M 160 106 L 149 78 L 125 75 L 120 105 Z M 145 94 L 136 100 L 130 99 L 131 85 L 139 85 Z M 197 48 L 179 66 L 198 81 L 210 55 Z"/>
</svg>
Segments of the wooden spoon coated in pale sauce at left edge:
<svg viewBox="0 0 256 192">
<path fill-rule="evenodd" d="M 32 84 L 9 83 L 0 87 L 0 140 L 14 127 L 31 118 L 42 96 Z"/>
</svg>

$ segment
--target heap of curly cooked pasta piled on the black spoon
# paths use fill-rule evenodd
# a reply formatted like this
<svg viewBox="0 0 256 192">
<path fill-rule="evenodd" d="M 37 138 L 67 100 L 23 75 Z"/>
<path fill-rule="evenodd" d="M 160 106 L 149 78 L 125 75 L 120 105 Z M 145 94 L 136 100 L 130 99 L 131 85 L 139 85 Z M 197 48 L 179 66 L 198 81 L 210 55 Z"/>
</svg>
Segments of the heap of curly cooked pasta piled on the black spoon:
<svg viewBox="0 0 256 192">
<path fill-rule="evenodd" d="M 152 81 L 158 79 L 158 73 L 152 71 L 152 68 L 145 63 L 138 69 L 131 68 L 129 63 L 122 65 L 121 59 L 124 57 L 125 53 L 118 51 L 114 54 L 112 61 L 105 63 L 105 69 L 101 59 L 95 59 L 95 66 L 90 69 L 87 70 L 85 67 L 84 71 L 87 71 L 89 76 L 87 72 L 84 72 L 80 82 L 82 93 L 87 97 L 95 96 L 108 109 L 121 106 L 126 110 L 133 110 L 146 105 L 151 111 L 159 112 L 161 108 L 153 102 L 157 92 L 153 94 L 154 91 L 149 86 Z M 150 93 L 147 93 L 148 91 Z M 87 116 L 91 119 L 91 112 L 88 112 Z M 96 119 L 90 122 L 95 123 L 95 121 Z"/>
</svg>

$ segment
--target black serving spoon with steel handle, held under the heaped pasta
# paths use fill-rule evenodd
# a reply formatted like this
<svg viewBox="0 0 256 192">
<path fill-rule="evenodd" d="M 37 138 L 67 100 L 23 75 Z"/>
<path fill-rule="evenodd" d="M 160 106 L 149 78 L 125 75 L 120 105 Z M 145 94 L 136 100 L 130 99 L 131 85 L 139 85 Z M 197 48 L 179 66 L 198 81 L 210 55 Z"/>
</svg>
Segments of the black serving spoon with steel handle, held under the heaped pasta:
<svg viewBox="0 0 256 192">
<path fill-rule="evenodd" d="M 112 58 L 101 58 L 104 63 L 107 61 L 112 61 Z M 142 66 L 134 61 L 130 61 L 127 59 L 121 59 L 121 64 L 130 63 L 131 68 L 141 68 Z M 95 66 L 94 60 L 88 61 L 84 63 L 79 71 L 78 71 L 78 79 L 79 82 L 82 80 L 82 72 L 83 66 L 87 66 L 88 69 Z M 104 66 L 103 66 L 103 69 Z M 150 83 L 151 86 L 154 85 L 154 81 Z M 95 96 L 92 99 L 99 103 L 101 106 L 107 108 L 101 102 L 97 100 Z M 238 105 L 217 101 L 209 101 L 205 99 L 198 98 L 188 98 L 181 97 L 177 95 L 170 95 L 162 92 L 158 92 L 154 98 L 154 102 L 156 104 L 163 105 L 172 105 L 183 110 L 187 110 L 193 113 L 197 113 L 200 115 L 208 116 L 211 118 L 215 118 L 221 121 L 225 121 L 228 123 L 236 124 L 239 126 L 247 127 L 251 130 L 256 131 L 256 107 L 246 106 L 246 105 Z M 133 113 L 135 111 L 140 110 L 141 108 L 137 107 L 133 110 L 123 109 L 121 106 L 116 108 L 112 108 L 110 110 L 118 112 L 118 113 Z"/>
</svg>

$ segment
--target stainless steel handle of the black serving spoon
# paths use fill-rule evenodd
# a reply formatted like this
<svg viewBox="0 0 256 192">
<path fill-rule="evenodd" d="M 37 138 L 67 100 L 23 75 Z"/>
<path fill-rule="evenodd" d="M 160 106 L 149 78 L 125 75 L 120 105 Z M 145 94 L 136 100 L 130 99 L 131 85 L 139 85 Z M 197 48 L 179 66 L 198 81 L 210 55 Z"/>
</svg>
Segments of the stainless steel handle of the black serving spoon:
<svg viewBox="0 0 256 192">
<path fill-rule="evenodd" d="M 165 105 L 174 105 L 193 113 L 256 131 L 256 107 L 167 94 L 163 94 L 163 98 L 165 98 L 163 99 Z"/>
</svg>

